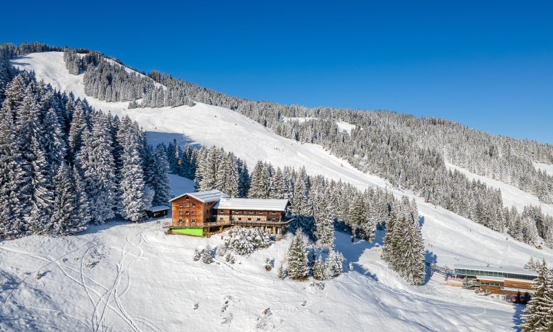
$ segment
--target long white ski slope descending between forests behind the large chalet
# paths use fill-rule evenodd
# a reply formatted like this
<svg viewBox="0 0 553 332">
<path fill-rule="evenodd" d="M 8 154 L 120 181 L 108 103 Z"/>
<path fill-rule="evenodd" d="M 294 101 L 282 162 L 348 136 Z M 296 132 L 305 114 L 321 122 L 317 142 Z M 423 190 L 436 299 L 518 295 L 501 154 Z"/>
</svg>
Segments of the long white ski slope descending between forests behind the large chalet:
<svg viewBox="0 0 553 332">
<path fill-rule="evenodd" d="M 194 107 L 163 107 L 156 109 L 128 109 L 126 102 L 103 102 L 84 94 L 82 75 L 71 75 L 65 68 L 62 52 L 32 53 L 11 61 L 22 69 L 35 71 L 37 80 L 44 80 L 55 88 L 73 92 L 86 98 L 97 109 L 120 116 L 128 114 L 149 131 L 151 144 L 176 138 L 180 142 L 217 145 L 246 160 L 252 167 L 256 160 L 270 161 L 275 166 L 306 167 L 309 174 L 322 174 L 341 179 L 363 189 L 368 186 L 388 187 L 377 176 L 364 174 L 344 160 L 331 156 L 318 145 L 300 144 L 276 135 L 261 124 L 223 107 L 198 103 Z M 129 69 L 130 70 L 130 69 Z M 427 243 L 433 244 L 438 263 L 452 266 L 464 262 L 492 264 L 520 268 L 529 257 L 553 257 L 553 250 L 537 250 L 518 241 L 478 225 L 469 219 L 440 207 L 429 205 L 409 192 L 393 190 L 415 198 L 424 219 L 422 232 Z M 509 239 L 506 241 L 506 239 Z M 466 246 L 481 248 L 480 254 L 465 255 Z M 508 255 L 504 255 L 507 254 Z"/>
</svg>

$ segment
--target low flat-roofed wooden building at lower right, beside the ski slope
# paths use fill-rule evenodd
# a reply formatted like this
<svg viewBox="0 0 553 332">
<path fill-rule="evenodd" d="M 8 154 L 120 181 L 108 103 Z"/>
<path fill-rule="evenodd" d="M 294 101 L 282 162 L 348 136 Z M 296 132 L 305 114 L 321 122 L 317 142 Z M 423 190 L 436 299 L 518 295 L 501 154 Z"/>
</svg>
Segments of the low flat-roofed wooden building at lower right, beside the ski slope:
<svg viewBox="0 0 553 332">
<path fill-rule="evenodd" d="M 534 294 L 536 271 L 489 266 L 456 265 L 455 275 L 464 279 L 465 288 L 500 295 L 507 302 L 526 303 Z"/>
</svg>

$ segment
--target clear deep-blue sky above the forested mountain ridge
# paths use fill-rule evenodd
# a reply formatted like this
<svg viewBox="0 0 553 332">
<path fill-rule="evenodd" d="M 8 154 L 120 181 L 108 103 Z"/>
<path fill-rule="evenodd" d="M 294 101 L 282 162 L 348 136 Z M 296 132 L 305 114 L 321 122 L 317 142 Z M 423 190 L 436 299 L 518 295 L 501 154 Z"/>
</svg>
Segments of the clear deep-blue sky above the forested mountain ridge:
<svg viewBox="0 0 553 332">
<path fill-rule="evenodd" d="M 92 48 L 254 100 L 553 143 L 550 1 L 240 2 L 9 1 L 0 42 Z"/>
</svg>

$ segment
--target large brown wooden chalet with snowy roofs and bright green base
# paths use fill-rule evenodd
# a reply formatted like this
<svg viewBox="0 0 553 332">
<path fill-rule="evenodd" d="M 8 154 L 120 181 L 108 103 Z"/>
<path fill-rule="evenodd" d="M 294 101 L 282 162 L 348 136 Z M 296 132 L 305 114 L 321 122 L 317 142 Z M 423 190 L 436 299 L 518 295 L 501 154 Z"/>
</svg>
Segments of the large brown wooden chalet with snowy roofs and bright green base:
<svg viewBox="0 0 553 332">
<path fill-rule="evenodd" d="M 282 234 L 290 223 L 288 199 L 231 199 L 218 190 L 182 194 L 169 201 L 171 221 L 164 223 L 171 234 L 202 237 L 232 225 L 259 227 Z"/>
</svg>

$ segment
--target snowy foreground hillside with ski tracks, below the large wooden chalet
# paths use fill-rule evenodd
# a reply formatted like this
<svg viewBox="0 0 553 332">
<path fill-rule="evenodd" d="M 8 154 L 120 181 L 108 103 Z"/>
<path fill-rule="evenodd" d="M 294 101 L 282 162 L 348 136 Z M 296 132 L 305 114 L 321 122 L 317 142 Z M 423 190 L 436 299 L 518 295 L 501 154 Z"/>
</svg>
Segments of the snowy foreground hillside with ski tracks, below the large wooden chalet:
<svg viewBox="0 0 553 332">
<path fill-rule="evenodd" d="M 171 184 L 175 194 L 193 189 L 178 176 Z M 195 248 L 221 245 L 224 235 L 171 236 L 156 221 L 113 221 L 73 237 L 3 241 L 0 315 L 11 319 L 0 321 L 0 329 L 175 331 L 186 324 L 194 331 L 500 331 L 517 319 L 517 306 L 442 286 L 439 275 L 427 286 L 410 286 L 386 268 L 376 243 L 350 243 L 339 232 L 337 249 L 354 271 L 322 291 L 263 269 L 266 257 L 279 264 L 289 239 L 234 265 L 222 257 L 209 266 L 192 260 Z M 478 255 L 476 247 L 467 248 L 465 255 Z M 265 308 L 271 315 L 263 315 Z"/>
</svg>

